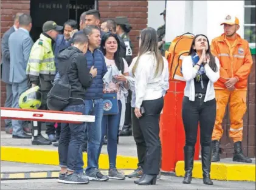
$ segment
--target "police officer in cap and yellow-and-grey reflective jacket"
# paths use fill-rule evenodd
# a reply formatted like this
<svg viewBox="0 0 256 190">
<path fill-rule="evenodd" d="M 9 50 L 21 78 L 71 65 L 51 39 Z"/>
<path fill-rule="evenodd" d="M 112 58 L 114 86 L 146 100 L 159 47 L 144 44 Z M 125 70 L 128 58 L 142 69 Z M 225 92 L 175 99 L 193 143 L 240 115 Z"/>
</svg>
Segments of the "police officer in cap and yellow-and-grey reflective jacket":
<svg viewBox="0 0 256 190">
<path fill-rule="evenodd" d="M 57 25 L 54 21 L 47 21 L 43 24 L 43 33 L 35 42 L 27 63 L 27 76 L 31 87 L 40 86 L 42 93 L 42 104 L 40 109 L 47 110 L 47 93 L 52 88 L 52 82 L 55 78 L 55 62 L 53 46 L 58 33 L 63 27 Z M 49 145 L 52 142 L 41 135 L 41 122 L 32 122 L 32 144 Z M 47 131 L 54 131 L 54 123 L 46 123 Z"/>
</svg>

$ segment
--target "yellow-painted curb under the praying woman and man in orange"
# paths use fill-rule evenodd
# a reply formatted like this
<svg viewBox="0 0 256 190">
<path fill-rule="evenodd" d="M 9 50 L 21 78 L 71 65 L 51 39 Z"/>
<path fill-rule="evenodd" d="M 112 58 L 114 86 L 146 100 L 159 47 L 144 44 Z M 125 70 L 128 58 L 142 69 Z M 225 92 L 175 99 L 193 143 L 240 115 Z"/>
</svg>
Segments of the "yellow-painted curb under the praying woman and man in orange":
<svg viewBox="0 0 256 190">
<path fill-rule="evenodd" d="M 184 161 L 178 161 L 175 168 L 177 177 L 184 177 Z M 194 162 L 193 176 L 202 178 L 201 161 Z M 212 163 L 210 177 L 212 180 L 255 182 L 255 164 Z"/>
</svg>

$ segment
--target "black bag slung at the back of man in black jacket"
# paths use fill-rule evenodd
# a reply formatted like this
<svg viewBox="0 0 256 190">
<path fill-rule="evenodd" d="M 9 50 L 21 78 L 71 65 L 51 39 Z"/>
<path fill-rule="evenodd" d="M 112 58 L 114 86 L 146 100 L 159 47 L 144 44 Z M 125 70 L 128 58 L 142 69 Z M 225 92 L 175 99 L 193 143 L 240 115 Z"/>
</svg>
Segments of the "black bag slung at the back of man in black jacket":
<svg viewBox="0 0 256 190">
<path fill-rule="evenodd" d="M 49 110 L 63 110 L 71 98 L 71 85 L 66 72 L 54 81 L 52 89 L 47 94 L 47 107 Z"/>
</svg>

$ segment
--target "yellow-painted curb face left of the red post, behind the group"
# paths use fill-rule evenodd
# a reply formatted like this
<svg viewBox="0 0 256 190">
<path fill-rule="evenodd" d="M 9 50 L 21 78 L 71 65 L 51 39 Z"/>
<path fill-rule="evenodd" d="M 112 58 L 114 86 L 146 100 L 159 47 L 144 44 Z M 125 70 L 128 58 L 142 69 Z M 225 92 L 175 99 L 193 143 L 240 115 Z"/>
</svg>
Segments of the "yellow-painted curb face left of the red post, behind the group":
<svg viewBox="0 0 256 190">
<path fill-rule="evenodd" d="M 20 148 L 13 146 L 1 146 L 1 161 L 15 161 L 20 163 L 31 163 L 38 165 L 58 166 L 58 151 L 47 149 Z M 87 153 L 83 153 L 83 161 L 87 163 Z M 117 155 L 117 169 L 136 169 L 137 157 Z M 86 166 L 84 166 L 85 168 Z M 108 169 L 108 155 L 100 154 L 99 168 Z"/>
</svg>

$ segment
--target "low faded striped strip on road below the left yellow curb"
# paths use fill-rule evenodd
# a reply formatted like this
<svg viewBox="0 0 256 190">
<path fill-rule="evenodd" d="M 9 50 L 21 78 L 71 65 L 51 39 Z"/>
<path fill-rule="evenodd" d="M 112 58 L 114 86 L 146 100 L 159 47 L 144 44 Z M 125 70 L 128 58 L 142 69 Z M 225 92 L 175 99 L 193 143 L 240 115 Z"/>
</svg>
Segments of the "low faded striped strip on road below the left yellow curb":
<svg viewBox="0 0 256 190">
<path fill-rule="evenodd" d="M 133 170 L 119 170 L 125 176 L 130 174 Z M 108 171 L 101 171 L 103 175 L 108 175 Z M 33 172 L 2 172 L 1 180 L 29 180 L 29 179 L 46 179 L 58 178 L 60 171 L 33 171 Z"/>
</svg>

